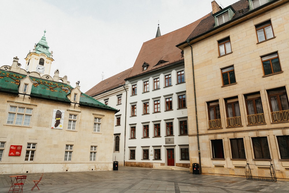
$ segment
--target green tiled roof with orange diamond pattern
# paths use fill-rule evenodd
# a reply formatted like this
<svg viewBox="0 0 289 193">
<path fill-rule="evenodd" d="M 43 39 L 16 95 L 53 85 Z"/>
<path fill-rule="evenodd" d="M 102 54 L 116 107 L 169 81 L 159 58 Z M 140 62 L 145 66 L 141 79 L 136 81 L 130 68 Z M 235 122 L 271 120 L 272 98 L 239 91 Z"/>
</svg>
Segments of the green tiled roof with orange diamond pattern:
<svg viewBox="0 0 289 193">
<path fill-rule="evenodd" d="M 0 91 L 14 94 L 18 94 L 18 86 L 20 84 L 20 80 L 27 76 L 4 70 L 0 70 L 0 75 Z M 42 78 L 29 78 L 33 81 L 30 94 L 31 97 L 43 98 L 46 100 L 56 100 L 67 103 L 71 102 L 67 98 L 67 95 L 73 89 L 73 87 L 70 85 Z M 117 109 L 109 107 L 84 93 L 81 93 L 79 104 L 109 111 L 117 111 Z"/>
</svg>

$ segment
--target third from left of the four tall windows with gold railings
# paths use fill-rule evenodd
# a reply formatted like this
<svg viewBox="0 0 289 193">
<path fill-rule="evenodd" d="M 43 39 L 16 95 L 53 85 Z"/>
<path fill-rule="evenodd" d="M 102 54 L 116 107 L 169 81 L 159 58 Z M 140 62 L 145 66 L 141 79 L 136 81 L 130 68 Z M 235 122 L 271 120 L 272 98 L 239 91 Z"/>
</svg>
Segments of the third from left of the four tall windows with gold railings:
<svg viewBox="0 0 289 193">
<path fill-rule="evenodd" d="M 248 124 L 264 124 L 265 118 L 260 93 L 245 95 L 245 102 Z"/>
</svg>

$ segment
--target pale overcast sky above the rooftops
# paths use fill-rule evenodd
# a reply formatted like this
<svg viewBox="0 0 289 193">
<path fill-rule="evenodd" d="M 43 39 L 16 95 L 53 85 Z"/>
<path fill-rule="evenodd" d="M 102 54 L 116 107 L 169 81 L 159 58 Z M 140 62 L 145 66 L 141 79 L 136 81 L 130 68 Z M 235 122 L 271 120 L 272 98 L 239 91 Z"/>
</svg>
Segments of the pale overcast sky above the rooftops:
<svg viewBox="0 0 289 193">
<path fill-rule="evenodd" d="M 212 11 L 212 0 L 0 0 L 0 66 L 19 58 L 46 30 L 59 69 L 82 92 L 134 65 L 143 42 L 184 27 Z M 216 0 L 223 8 L 237 0 Z"/>
</svg>

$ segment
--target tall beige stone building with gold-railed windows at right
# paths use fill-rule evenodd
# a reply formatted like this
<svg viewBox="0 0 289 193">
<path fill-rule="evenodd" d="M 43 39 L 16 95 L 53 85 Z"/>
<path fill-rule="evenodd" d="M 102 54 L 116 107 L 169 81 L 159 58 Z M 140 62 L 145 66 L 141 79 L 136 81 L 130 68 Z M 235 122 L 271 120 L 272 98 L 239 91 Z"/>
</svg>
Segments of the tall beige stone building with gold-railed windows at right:
<svg viewBox="0 0 289 193">
<path fill-rule="evenodd" d="M 190 162 L 289 179 L 289 1 L 212 1 L 184 50 Z M 195 107 L 196 106 L 196 107 Z M 268 174 L 269 173 L 269 174 Z"/>
</svg>

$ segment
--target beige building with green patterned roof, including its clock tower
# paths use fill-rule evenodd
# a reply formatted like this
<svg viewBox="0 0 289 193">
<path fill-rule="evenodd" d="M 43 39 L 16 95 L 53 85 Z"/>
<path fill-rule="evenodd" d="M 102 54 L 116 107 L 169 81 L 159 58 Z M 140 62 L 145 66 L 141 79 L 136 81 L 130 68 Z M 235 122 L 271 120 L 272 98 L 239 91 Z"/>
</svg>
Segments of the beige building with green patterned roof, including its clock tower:
<svg viewBox="0 0 289 193">
<path fill-rule="evenodd" d="M 0 68 L 0 174 L 112 170 L 116 109 L 49 74 L 45 35 L 26 70 L 15 57 Z"/>
</svg>

